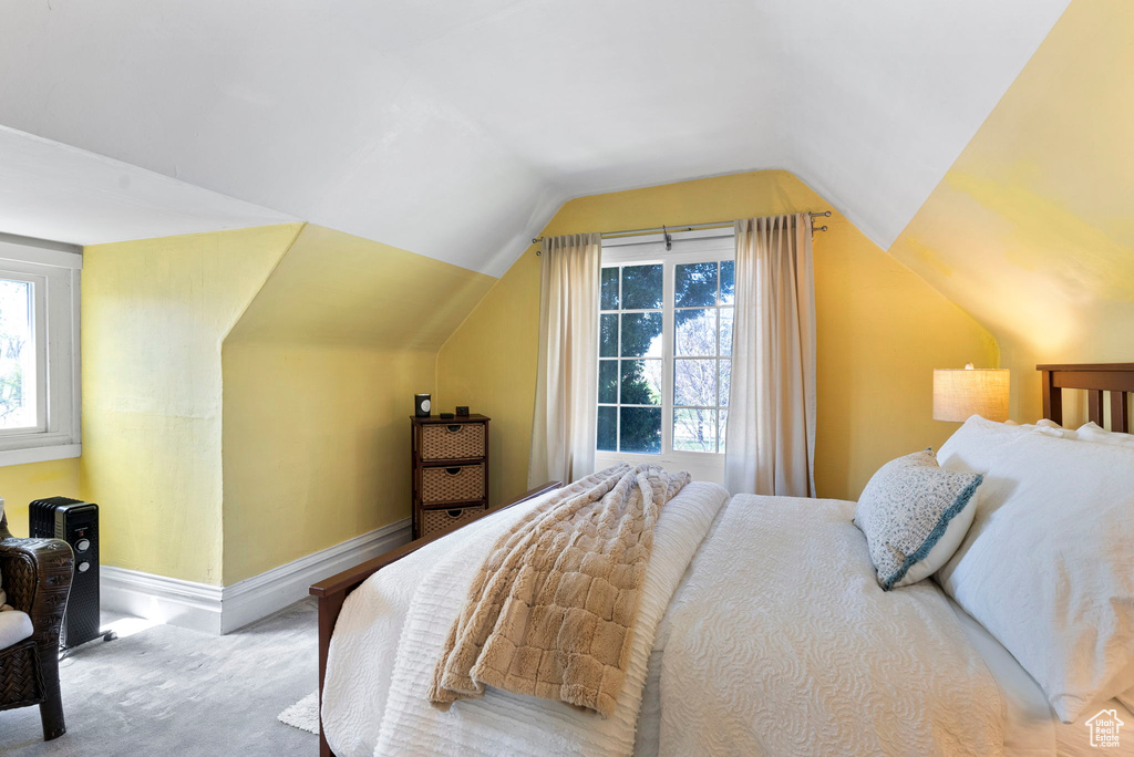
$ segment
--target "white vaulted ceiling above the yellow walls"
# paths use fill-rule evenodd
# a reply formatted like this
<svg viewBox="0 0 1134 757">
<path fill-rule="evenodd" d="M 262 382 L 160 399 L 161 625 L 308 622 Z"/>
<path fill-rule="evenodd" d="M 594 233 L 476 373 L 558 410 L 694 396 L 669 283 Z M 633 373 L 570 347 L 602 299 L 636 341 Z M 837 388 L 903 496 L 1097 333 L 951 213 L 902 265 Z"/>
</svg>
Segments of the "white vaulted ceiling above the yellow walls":
<svg viewBox="0 0 1134 757">
<path fill-rule="evenodd" d="M 888 248 L 1066 5 L 6 0 L 0 231 L 301 219 L 499 275 L 567 198 L 778 168 Z"/>
</svg>

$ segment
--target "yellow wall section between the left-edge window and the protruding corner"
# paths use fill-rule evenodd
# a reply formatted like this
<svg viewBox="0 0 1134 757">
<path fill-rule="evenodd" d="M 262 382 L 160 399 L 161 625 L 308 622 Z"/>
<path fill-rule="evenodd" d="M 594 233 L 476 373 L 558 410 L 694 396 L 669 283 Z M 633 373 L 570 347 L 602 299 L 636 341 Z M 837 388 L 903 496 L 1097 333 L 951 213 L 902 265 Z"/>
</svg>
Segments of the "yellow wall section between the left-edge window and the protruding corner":
<svg viewBox="0 0 1134 757">
<path fill-rule="evenodd" d="M 221 581 L 221 342 L 301 224 L 84 250 L 83 457 L 107 564 Z"/>
</svg>

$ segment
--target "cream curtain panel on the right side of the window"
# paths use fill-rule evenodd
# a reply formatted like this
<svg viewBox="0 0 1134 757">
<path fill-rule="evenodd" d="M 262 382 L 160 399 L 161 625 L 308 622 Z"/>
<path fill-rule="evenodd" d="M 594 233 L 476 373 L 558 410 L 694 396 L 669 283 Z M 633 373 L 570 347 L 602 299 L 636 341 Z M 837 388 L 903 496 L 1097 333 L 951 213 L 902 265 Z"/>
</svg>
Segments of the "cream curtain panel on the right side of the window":
<svg viewBox="0 0 1134 757">
<path fill-rule="evenodd" d="M 806 213 L 736 222 L 725 436 L 733 494 L 815 494 L 815 287 Z"/>
</svg>

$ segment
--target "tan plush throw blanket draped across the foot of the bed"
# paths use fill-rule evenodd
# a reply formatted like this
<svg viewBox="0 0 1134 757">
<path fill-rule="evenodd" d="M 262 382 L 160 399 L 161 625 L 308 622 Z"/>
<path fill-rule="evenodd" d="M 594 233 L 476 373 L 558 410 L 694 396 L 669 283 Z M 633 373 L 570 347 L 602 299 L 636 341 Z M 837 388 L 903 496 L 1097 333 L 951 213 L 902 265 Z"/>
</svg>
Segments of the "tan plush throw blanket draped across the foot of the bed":
<svg viewBox="0 0 1134 757">
<path fill-rule="evenodd" d="M 613 712 L 653 527 L 689 480 L 652 465 L 607 468 L 501 535 L 449 631 L 430 700 L 447 708 L 493 686 Z"/>
</svg>

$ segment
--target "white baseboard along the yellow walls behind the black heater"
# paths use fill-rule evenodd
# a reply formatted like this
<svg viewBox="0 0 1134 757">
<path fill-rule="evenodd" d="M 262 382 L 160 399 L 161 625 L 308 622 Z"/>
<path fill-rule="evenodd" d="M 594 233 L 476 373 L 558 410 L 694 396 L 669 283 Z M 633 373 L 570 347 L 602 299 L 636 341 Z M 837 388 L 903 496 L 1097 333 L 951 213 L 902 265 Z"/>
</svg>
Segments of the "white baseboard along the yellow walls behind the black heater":
<svg viewBox="0 0 1134 757">
<path fill-rule="evenodd" d="M 205 633 L 228 633 L 302 599 L 315 581 L 408 541 L 406 518 L 225 587 L 102 567 L 102 606 Z"/>
</svg>

